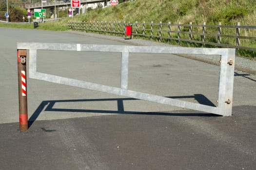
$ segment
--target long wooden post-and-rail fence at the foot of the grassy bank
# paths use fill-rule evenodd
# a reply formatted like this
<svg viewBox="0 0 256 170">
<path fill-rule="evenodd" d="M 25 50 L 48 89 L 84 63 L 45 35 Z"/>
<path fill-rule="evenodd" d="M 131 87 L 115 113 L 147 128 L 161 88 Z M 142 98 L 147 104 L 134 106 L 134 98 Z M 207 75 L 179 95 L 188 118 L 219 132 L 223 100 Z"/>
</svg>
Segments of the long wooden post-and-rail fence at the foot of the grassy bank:
<svg viewBox="0 0 256 170">
<path fill-rule="evenodd" d="M 169 23 L 130 23 L 130 22 L 68 22 L 68 27 L 76 31 L 104 32 L 124 35 L 125 26 L 132 25 L 135 37 L 148 37 L 159 42 L 201 44 L 204 47 L 226 47 L 256 51 L 256 26 L 236 25 L 195 25 Z"/>
</svg>

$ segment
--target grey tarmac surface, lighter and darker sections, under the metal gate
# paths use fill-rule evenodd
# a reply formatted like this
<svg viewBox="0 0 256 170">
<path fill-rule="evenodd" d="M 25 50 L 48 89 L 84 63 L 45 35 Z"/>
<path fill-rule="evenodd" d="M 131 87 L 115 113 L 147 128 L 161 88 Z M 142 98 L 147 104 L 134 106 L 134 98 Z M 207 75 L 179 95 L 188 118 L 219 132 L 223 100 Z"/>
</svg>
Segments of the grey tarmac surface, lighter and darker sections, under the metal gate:
<svg viewBox="0 0 256 170">
<path fill-rule="evenodd" d="M 254 170 L 256 77 L 236 70 L 233 115 L 216 115 L 28 79 L 19 132 L 17 42 L 128 45 L 72 32 L 0 27 L 0 169 Z M 119 85 L 118 53 L 39 52 L 39 71 Z M 134 54 L 129 87 L 217 104 L 218 66 Z"/>
</svg>

